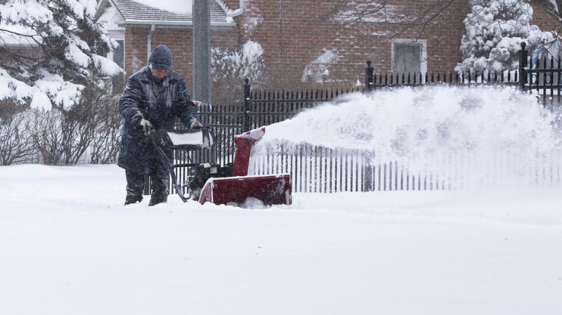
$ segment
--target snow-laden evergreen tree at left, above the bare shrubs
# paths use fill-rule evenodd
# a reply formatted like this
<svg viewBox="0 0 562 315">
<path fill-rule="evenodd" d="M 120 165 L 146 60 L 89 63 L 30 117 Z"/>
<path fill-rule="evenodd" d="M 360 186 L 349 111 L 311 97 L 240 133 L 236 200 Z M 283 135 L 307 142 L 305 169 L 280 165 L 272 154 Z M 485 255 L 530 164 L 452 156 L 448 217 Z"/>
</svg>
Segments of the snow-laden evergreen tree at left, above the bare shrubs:
<svg viewBox="0 0 562 315">
<path fill-rule="evenodd" d="M 0 100 L 68 110 L 121 72 L 95 12 L 95 0 L 0 0 Z"/>
</svg>

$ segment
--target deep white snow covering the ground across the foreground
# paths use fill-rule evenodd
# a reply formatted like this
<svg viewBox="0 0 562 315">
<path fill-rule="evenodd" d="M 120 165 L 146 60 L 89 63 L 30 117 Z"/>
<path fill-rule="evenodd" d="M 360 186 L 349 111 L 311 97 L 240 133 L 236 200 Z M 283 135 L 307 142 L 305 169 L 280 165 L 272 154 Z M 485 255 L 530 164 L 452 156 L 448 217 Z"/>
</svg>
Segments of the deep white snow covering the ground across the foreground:
<svg viewBox="0 0 562 315">
<path fill-rule="evenodd" d="M 0 182 L 0 314 L 562 314 L 559 190 L 149 208 L 115 165 Z"/>
</svg>

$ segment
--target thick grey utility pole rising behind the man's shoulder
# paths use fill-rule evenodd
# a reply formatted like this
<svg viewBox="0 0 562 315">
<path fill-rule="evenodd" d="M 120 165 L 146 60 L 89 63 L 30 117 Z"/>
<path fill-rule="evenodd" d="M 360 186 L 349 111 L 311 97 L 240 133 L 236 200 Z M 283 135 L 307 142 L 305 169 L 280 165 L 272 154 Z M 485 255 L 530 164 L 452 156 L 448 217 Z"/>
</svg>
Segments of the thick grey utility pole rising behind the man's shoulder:
<svg viewBox="0 0 562 315">
<path fill-rule="evenodd" d="M 211 104 L 211 6 L 193 0 L 193 100 Z"/>
</svg>

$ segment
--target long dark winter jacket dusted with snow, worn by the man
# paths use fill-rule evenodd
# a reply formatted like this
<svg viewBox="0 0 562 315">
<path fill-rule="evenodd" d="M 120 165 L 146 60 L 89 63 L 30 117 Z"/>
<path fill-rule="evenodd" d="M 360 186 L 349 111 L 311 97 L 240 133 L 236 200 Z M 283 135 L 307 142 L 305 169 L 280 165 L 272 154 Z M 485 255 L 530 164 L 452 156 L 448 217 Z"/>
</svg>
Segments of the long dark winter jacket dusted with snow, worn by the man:
<svg viewBox="0 0 562 315">
<path fill-rule="evenodd" d="M 124 125 L 117 164 L 136 173 L 150 174 L 155 166 L 164 166 L 150 137 L 133 126 L 137 117 L 150 121 L 156 130 L 174 129 L 176 118 L 188 127 L 199 121 L 197 105 L 191 101 L 183 76 L 174 71 L 158 82 L 150 69 L 143 67 L 129 78 L 118 107 Z M 166 150 L 166 154 L 170 162 L 171 150 Z"/>
</svg>

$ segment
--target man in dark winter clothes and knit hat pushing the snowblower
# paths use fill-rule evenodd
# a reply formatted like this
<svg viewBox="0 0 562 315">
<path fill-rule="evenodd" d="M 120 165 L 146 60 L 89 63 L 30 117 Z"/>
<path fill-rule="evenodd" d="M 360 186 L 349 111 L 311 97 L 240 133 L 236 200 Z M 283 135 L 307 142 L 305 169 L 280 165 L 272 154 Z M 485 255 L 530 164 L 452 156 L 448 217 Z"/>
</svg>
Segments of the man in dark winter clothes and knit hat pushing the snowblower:
<svg viewBox="0 0 562 315">
<path fill-rule="evenodd" d="M 202 128 L 197 106 L 191 101 L 183 76 L 172 71 L 168 47 L 157 46 L 148 65 L 129 78 L 119 113 L 123 116 L 123 135 L 118 165 L 125 169 L 127 181 L 125 205 L 143 200 L 145 175 L 152 178 L 148 206 L 165 203 L 169 195 L 169 170 L 166 163 L 173 152 L 165 150 L 164 161 L 148 136 L 150 130 L 171 130 L 176 119 L 190 128 Z"/>
</svg>

